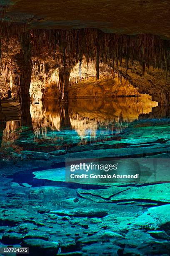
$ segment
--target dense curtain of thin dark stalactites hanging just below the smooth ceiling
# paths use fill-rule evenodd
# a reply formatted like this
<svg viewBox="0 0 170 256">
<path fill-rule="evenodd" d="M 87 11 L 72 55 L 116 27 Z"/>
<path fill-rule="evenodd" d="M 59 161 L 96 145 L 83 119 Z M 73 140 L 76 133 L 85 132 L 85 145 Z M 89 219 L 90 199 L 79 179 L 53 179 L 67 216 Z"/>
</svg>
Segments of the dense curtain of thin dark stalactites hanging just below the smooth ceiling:
<svg viewBox="0 0 170 256">
<path fill-rule="evenodd" d="M 100 32 L 99 37 L 99 31 L 96 29 L 80 29 L 79 31 L 65 32 L 60 30 L 51 32 L 33 31 L 32 34 L 33 45 L 37 52 L 42 49 L 45 52 L 47 47 L 50 54 L 51 45 L 55 45 L 57 49 L 56 54 L 59 54 L 61 49 L 65 47 L 67 66 L 75 64 L 80 60 L 80 55 L 82 56 L 83 54 L 88 56 L 89 60 L 96 60 L 95 47 L 96 41 L 99 40 L 100 58 L 102 61 L 107 62 L 113 58 L 118 63 L 122 59 L 126 59 L 127 64 L 129 61 L 132 63 L 138 61 L 143 67 L 145 62 L 146 65 L 165 70 L 163 54 L 165 53 L 167 56 L 170 47 L 169 42 L 165 43 L 158 36 L 147 34 L 125 36 Z M 168 71 L 170 69 L 169 66 L 170 64 L 168 65 Z"/>
</svg>

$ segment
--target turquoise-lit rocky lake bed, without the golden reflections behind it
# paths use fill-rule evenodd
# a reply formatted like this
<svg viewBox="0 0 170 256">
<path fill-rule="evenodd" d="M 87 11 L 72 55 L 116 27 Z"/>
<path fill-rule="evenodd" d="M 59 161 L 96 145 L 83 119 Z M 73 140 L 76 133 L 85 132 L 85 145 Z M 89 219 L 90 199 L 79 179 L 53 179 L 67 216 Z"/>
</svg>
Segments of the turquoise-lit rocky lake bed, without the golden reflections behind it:
<svg viewBox="0 0 170 256">
<path fill-rule="evenodd" d="M 157 123 L 135 125 L 115 140 L 77 145 L 67 152 L 40 151 L 49 144 L 50 133 L 42 144 L 31 140 L 28 133 L 25 138 L 20 136 L 18 145 L 27 147 L 19 153 L 4 141 L 2 149 L 10 150 L 10 158 L 0 160 L 0 246 L 29 247 L 30 255 L 37 256 L 170 255 L 169 183 L 73 186 L 62 181 L 60 172 L 49 171 L 65 158 L 118 156 L 120 152 L 126 157 L 151 153 L 165 164 L 169 125 Z M 77 143 L 77 134 L 67 136 Z M 163 169 L 160 164 L 158 172 Z"/>
</svg>

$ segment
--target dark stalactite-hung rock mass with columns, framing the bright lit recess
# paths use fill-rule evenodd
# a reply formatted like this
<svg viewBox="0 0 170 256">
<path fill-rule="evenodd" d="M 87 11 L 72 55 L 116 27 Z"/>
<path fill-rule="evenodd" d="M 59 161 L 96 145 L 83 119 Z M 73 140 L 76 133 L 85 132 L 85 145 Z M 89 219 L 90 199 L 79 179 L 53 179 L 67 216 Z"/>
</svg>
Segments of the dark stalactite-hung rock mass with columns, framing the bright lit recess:
<svg viewBox="0 0 170 256">
<path fill-rule="evenodd" d="M 81 81 L 84 59 L 87 69 L 94 62 L 96 79 L 101 77 L 101 65 L 105 65 L 107 76 L 114 79 L 116 72 L 120 81 L 124 77 L 139 93 L 148 93 L 160 105 L 169 104 L 170 42 L 158 36 L 105 34 L 97 29 L 23 32 L 17 27 L 14 34 L 7 31 L 1 39 L 3 94 L 12 87 L 20 101 L 29 101 L 32 80 L 35 87 L 41 83 L 43 98 L 52 72 L 58 69 L 54 79 L 56 92 L 59 88 L 56 97 L 67 102 L 70 72 L 79 63 Z"/>
</svg>

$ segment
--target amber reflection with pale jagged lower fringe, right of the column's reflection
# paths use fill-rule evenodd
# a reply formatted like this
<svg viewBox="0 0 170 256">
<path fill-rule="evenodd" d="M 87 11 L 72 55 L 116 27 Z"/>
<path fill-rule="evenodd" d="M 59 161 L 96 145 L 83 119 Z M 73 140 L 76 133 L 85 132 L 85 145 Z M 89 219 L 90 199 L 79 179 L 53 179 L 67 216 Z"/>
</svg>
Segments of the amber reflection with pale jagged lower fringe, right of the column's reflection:
<svg viewBox="0 0 170 256">
<path fill-rule="evenodd" d="M 105 101 L 104 99 L 70 101 L 70 120 L 72 128 L 81 138 L 95 136 L 99 128 L 111 129 L 120 133 L 128 123 L 138 119 L 140 113 L 149 113 L 157 106 L 150 96 L 123 97 Z"/>
</svg>

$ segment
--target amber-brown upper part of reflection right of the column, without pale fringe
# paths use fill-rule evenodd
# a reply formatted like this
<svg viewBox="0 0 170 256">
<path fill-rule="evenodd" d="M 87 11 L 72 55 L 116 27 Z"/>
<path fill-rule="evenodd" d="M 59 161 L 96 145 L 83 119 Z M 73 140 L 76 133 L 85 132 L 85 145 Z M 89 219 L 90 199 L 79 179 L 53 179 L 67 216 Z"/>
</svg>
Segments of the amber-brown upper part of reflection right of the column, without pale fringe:
<svg viewBox="0 0 170 256">
<path fill-rule="evenodd" d="M 122 113 L 125 121 L 138 119 L 141 113 L 150 113 L 158 102 L 153 102 L 148 95 L 141 97 L 117 97 L 110 100 L 104 99 L 77 99 L 70 100 L 69 108 L 82 116 L 90 119 L 118 120 Z"/>
</svg>

